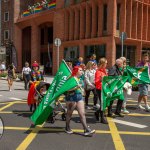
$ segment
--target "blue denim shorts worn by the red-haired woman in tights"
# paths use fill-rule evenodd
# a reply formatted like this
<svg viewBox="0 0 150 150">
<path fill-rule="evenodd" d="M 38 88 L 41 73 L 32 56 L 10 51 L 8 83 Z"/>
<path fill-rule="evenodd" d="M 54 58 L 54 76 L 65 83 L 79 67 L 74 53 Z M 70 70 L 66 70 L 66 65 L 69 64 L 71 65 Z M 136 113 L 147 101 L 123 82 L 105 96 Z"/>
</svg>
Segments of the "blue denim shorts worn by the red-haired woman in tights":
<svg viewBox="0 0 150 150">
<path fill-rule="evenodd" d="M 66 96 L 67 102 L 79 102 L 83 100 L 83 96 L 81 93 L 73 93 Z"/>
</svg>

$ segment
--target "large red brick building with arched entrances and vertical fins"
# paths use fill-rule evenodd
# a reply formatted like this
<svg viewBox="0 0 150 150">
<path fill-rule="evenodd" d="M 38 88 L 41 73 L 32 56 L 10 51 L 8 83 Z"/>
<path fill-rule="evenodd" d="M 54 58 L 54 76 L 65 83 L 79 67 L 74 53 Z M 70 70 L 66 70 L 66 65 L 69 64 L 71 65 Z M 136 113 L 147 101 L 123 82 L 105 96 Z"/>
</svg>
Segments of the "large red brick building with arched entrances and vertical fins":
<svg viewBox="0 0 150 150">
<path fill-rule="evenodd" d="M 41 0 L 30 5 L 36 2 Z M 23 17 L 28 5 L 29 1 L 14 1 L 18 69 L 25 61 L 45 66 L 52 61 L 54 74 L 55 38 L 62 41 L 59 60 L 82 56 L 86 62 L 95 53 L 97 59 L 105 56 L 111 66 L 121 56 L 121 32 L 127 34 L 123 52 L 131 65 L 140 60 L 142 50 L 150 50 L 150 0 L 56 0 L 56 8 Z"/>
</svg>

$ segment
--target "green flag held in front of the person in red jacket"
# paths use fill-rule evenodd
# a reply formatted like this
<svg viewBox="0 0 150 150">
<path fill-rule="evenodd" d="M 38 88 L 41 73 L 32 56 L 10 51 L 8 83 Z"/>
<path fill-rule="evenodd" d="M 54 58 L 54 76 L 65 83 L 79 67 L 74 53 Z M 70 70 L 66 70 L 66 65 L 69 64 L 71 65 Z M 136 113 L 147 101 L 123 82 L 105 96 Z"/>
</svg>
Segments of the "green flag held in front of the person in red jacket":
<svg viewBox="0 0 150 150">
<path fill-rule="evenodd" d="M 101 109 L 104 111 L 115 99 L 124 100 L 123 85 L 127 76 L 105 76 L 102 81 Z"/>
</svg>

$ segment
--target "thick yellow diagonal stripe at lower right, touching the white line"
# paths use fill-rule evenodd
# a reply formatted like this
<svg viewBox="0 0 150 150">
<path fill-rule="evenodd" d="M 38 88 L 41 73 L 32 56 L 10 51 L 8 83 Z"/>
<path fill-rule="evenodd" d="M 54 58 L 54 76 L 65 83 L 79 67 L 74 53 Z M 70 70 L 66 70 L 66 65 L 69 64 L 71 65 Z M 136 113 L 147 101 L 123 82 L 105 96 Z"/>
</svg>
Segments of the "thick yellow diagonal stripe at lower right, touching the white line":
<svg viewBox="0 0 150 150">
<path fill-rule="evenodd" d="M 125 147 L 119 135 L 118 129 L 115 123 L 111 120 L 112 120 L 111 118 L 108 118 L 109 128 L 110 128 L 110 132 L 111 132 L 111 136 L 112 136 L 115 148 L 116 150 L 125 150 Z"/>
</svg>

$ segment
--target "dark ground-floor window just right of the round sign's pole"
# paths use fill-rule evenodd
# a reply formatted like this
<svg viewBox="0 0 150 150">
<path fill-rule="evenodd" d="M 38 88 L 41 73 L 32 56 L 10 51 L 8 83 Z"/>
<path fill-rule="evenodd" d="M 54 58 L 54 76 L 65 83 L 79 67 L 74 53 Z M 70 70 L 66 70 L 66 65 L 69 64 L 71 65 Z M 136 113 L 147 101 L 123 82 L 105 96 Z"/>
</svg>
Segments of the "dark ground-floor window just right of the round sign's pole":
<svg viewBox="0 0 150 150">
<path fill-rule="evenodd" d="M 66 61 L 72 61 L 73 64 L 77 61 L 79 57 L 79 47 L 74 46 L 74 47 L 66 47 L 64 49 L 64 59 Z"/>
</svg>

